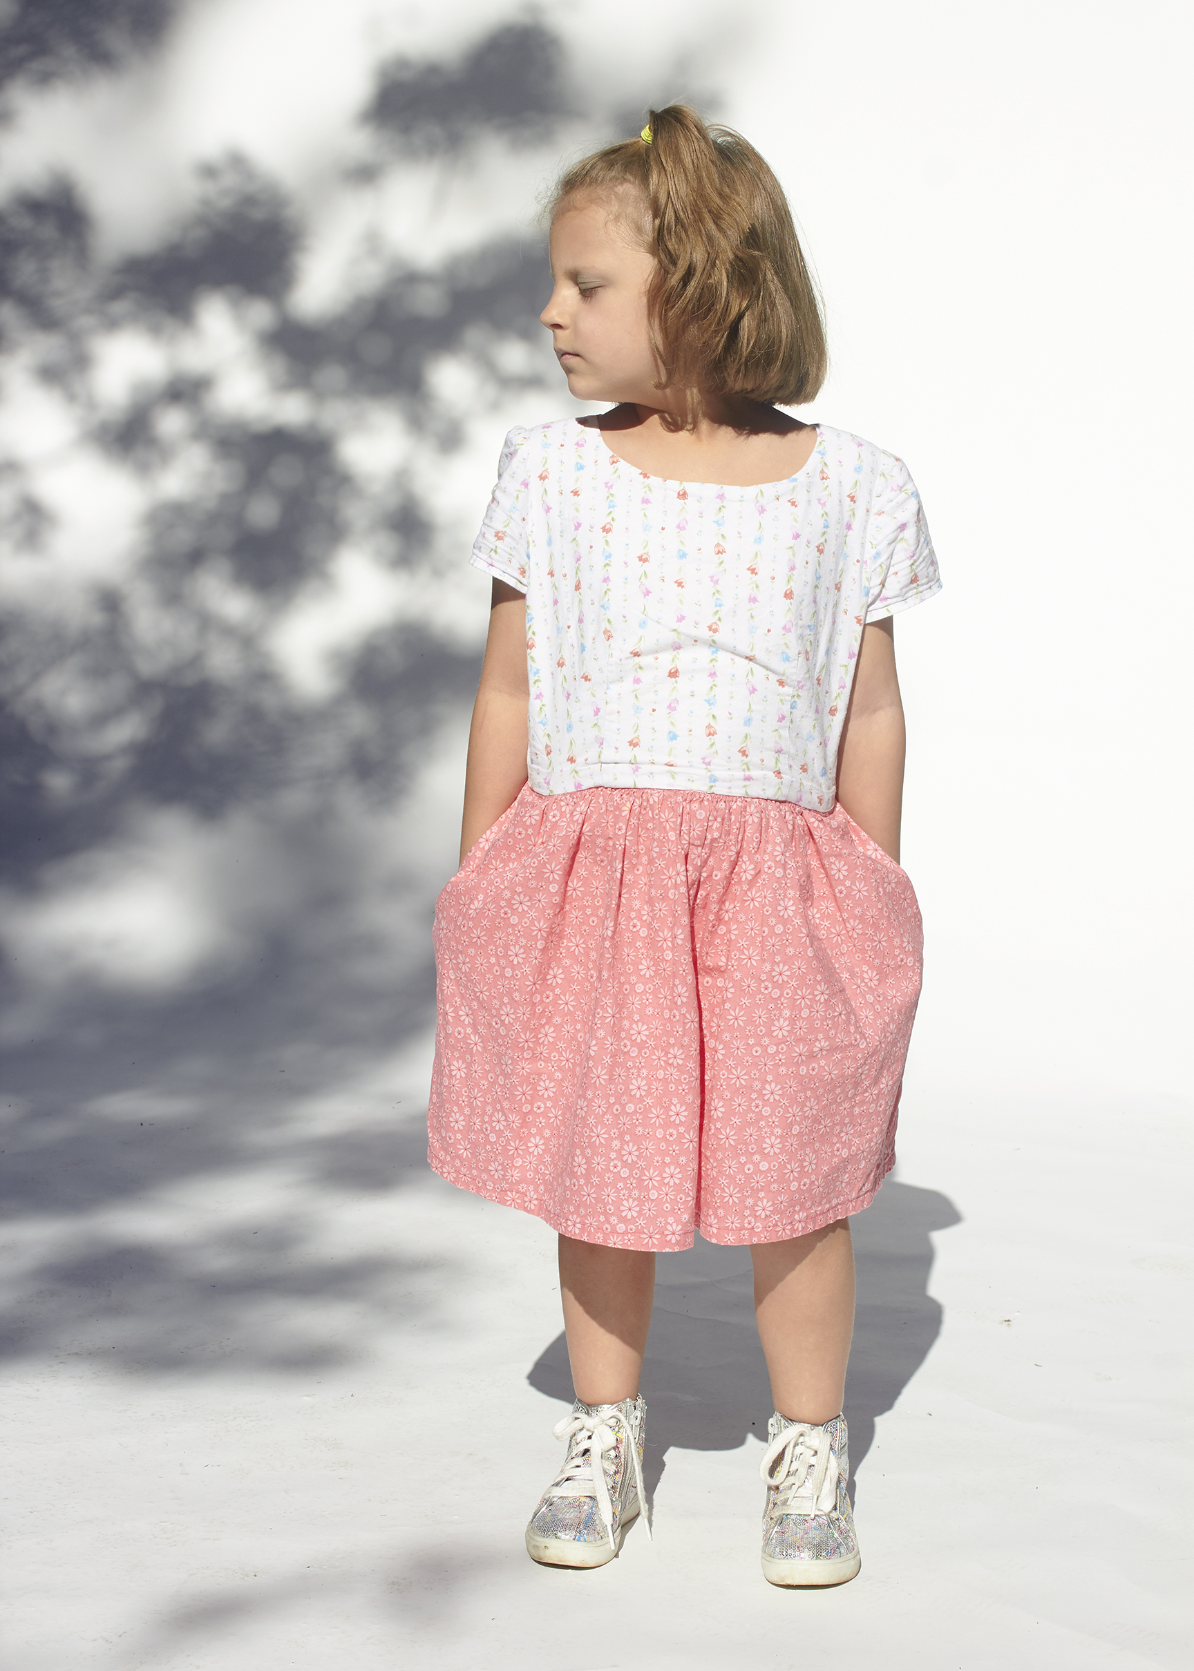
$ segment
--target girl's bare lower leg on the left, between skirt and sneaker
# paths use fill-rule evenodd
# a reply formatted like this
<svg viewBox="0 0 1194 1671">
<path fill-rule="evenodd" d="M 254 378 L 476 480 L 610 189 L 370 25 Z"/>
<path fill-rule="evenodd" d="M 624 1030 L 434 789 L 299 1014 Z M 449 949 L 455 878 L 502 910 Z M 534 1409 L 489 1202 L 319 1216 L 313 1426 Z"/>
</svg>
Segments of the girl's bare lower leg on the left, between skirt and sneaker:
<svg viewBox="0 0 1194 1671">
<path fill-rule="evenodd" d="M 560 1237 L 564 1330 L 582 1404 L 637 1397 L 654 1297 L 654 1253 Z"/>
</svg>

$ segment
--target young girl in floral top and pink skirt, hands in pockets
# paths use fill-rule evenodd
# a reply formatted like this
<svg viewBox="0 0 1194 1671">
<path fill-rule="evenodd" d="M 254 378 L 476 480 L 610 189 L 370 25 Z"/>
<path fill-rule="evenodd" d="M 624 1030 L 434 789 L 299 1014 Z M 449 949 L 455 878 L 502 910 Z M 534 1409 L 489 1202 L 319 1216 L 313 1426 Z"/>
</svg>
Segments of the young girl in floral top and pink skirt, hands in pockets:
<svg viewBox="0 0 1194 1671">
<path fill-rule="evenodd" d="M 575 1385 L 535 1561 L 644 1506 L 656 1253 L 749 1243 L 773 1584 L 858 1572 L 848 1215 L 920 993 L 891 617 L 938 590 L 898 458 L 778 411 L 826 369 L 763 157 L 684 105 L 569 169 L 542 314 L 600 418 L 512 429 L 462 866 L 435 919 L 431 1166 L 560 1238 Z"/>
</svg>

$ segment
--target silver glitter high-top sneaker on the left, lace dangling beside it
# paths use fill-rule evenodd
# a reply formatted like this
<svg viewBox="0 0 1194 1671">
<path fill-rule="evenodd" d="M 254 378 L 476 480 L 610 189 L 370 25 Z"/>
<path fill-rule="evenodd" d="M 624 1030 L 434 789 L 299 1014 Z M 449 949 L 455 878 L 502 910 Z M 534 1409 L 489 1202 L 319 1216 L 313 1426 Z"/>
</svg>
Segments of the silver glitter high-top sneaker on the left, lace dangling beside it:
<svg viewBox="0 0 1194 1671">
<path fill-rule="evenodd" d="M 564 1467 L 543 1492 L 527 1527 L 527 1554 L 543 1566 L 604 1566 L 622 1547 L 625 1529 L 637 1519 L 642 1489 L 642 1435 L 647 1405 L 572 1405 L 554 1427 L 569 1440 Z M 651 1521 L 647 1521 L 651 1537 Z"/>
</svg>

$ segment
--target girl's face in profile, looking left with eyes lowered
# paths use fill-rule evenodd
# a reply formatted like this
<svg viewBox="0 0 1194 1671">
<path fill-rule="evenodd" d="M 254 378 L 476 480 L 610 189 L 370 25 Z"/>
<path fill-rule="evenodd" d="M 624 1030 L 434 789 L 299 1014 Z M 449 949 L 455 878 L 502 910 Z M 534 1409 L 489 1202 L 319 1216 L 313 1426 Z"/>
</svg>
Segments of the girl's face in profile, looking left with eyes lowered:
<svg viewBox="0 0 1194 1671">
<path fill-rule="evenodd" d="M 557 212 L 550 259 L 555 287 L 538 317 L 570 393 L 579 401 L 657 408 L 659 368 L 647 326 L 656 257 L 634 244 L 609 201 L 589 197 Z"/>
</svg>

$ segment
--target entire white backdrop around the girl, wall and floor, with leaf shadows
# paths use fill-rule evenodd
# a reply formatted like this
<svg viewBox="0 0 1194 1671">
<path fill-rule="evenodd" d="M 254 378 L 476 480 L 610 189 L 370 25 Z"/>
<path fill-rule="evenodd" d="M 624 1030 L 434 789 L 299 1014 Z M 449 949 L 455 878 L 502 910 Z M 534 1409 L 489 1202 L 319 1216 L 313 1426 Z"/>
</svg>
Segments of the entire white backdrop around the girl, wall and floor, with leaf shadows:
<svg viewBox="0 0 1194 1671">
<path fill-rule="evenodd" d="M 1192 37 L 1156 0 L 0 12 L 13 1666 L 515 1664 L 575 1606 L 589 1671 L 791 1656 L 717 1427 L 741 1262 L 664 1262 L 661 1542 L 590 1614 L 518 1554 L 550 1238 L 420 1151 L 467 551 L 507 426 L 575 409 L 535 199 L 674 97 L 784 180 L 809 414 L 906 458 L 945 578 L 896 625 L 928 976 L 858 1225 L 868 1566 L 801 1639 L 1186 1663 Z"/>
</svg>

